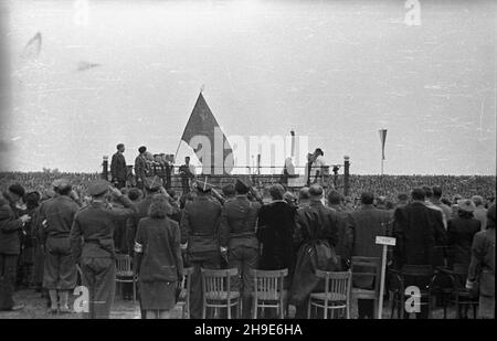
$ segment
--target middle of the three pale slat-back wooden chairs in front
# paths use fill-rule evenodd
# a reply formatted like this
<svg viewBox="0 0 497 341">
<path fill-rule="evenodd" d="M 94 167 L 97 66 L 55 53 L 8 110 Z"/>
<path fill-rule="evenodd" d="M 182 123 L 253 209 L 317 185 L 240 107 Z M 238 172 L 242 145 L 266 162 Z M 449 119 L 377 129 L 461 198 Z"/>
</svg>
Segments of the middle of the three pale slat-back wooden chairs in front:
<svg viewBox="0 0 497 341">
<path fill-rule="evenodd" d="M 284 278 L 288 269 L 281 270 L 256 270 L 251 269 L 254 277 L 253 316 L 257 318 L 258 308 L 276 309 L 279 318 L 285 317 L 285 291 L 283 289 Z"/>
</svg>

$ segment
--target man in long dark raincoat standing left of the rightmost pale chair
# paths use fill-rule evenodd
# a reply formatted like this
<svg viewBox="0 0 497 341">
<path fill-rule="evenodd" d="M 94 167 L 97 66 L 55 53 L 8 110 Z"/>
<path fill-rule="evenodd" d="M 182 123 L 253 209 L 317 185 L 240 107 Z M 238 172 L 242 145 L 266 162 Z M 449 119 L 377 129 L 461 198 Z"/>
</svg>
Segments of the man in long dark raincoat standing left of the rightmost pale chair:
<svg viewBox="0 0 497 341">
<path fill-rule="evenodd" d="M 322 188 L 309 188 L 310 203 L 297 210 L 294 241 L 300 245 L 292 281 L 290 302 L 297 308 L 297 318 L 306 318 L 307 301 L 319 278 L 316 269 L 331 271 L 339 268 L 335 255 L 338 244 L 338 216 L 322 204 Z"/>
</svg>

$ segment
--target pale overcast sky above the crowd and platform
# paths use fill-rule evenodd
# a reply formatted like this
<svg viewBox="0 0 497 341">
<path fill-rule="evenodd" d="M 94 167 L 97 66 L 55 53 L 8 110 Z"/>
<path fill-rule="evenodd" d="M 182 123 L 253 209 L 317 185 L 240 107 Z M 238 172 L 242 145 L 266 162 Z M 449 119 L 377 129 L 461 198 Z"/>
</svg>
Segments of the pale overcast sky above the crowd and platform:
<svg viewBox="0 0 497 341">
<path fill-rule="evenodd" d="M 494 1 L 421 0 L 420 25 L 401 0 L 2 2 L 3 170 L 173 153 L 204 84 L 228 137 L 294 129 L 379 173 L 384 127 L 385 173 L 496 172 Z"/>
</svg>

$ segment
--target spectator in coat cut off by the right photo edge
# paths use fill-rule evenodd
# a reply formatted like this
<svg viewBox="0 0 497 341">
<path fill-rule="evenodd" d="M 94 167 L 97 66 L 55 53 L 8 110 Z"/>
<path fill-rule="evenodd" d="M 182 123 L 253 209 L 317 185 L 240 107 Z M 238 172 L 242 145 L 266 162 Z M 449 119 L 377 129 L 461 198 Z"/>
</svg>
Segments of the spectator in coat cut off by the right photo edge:
<svg viewBox="0 0 497 341">
<path fill-rule="evenodd" d="M 495 204 L 488 207 L 487 230 L 475 235 L 466 288 L 474 289 L 479 281 L 482 319 L 495 319 Z"/>
</svg>

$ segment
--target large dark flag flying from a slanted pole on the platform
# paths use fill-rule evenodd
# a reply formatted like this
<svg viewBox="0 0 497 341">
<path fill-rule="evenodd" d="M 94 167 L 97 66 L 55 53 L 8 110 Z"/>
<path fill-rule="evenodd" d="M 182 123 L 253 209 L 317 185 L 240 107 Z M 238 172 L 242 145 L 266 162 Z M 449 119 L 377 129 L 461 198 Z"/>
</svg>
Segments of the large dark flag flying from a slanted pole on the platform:
<svg viewBox="0 0 497 341">
<path fill-rule="evenodd" d="M 202 93 L 197 98 L 181 140 L 193 149 L 202 162 L 204 174 L 225 174 L 232 171 L 233 150 Z"/>
</svg>

